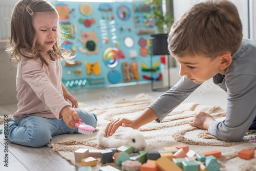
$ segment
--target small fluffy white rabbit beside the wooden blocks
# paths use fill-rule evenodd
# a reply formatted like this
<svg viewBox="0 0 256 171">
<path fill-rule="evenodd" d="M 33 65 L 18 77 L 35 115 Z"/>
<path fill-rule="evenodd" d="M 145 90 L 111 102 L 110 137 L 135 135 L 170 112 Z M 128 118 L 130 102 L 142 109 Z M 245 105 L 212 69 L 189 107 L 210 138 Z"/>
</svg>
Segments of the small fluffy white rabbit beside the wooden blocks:
<svg viewBox="0 0 256 171">
<path fill-rule="evenodd" d="M 119 126 L 116 132 L 106 138 L 104 137 L 105 127 L 98 133 L 99 144 L 106 148 L 118 148 L 122 145 L 133 147 L 133 152 L 145 150 L 147 144 L 143 134 L 131 127 Z"/>
</svg>

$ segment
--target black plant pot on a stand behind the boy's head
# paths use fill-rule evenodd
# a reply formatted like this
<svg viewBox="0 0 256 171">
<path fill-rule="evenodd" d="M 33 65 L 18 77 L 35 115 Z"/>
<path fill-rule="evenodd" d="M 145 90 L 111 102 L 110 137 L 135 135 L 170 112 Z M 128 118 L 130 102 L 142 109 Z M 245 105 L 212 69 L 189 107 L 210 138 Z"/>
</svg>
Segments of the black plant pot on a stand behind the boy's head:
<svg viewBox="0 0 256 171">
<path fill-rule="evenodd" d="M 167 55 L 168 51 L 168 34 L 152 34 L 152 50 L 153 55 Z"/>
</svg>

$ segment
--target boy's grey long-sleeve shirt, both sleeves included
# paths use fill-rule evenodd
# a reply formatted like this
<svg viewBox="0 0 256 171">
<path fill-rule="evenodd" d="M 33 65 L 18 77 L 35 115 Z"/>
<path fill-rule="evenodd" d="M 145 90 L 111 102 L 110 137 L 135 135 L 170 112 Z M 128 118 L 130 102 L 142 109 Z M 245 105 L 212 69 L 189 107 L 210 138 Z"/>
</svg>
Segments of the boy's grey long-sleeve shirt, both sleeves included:
<svg viewBox="0 0 256 171">
<path fill-rule="evenodd" d="M 220 140 L 241 141 L 256 116 L 256 39 L 243 39 L 225 76 L 217 74 L 213 80 L 227 92 L 228 102 L 225 120 L 212 122 L 208 132 Z M 160 122 L 200 85 L 182 77 L 148 108 L 154 110 Z"/>
</svg>

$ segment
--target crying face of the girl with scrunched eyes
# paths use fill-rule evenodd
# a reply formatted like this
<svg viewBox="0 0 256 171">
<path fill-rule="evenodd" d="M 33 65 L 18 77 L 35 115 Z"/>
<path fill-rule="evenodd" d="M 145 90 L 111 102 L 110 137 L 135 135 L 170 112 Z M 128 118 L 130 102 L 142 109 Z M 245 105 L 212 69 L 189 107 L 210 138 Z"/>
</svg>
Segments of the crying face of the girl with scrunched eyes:
<svg viewBox="0 0 256 171">
<path fill-rule="evenodd" d="M 36 31 L 36 41 L 41 52 L 46 53 L 56 43 L 58 15 L 55 12 L 35 12 L 32 16 L 32 25 Z"/>
</svg>

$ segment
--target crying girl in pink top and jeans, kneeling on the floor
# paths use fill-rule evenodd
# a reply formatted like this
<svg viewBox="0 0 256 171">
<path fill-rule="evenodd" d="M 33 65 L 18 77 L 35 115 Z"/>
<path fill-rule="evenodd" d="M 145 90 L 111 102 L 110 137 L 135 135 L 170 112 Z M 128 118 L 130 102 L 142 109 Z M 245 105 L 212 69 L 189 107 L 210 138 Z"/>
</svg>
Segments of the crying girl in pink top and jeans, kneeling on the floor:
<svg viewBox="0 0 256 171">
<path fill-rule="evenodd" d="M 7 51 L 18 61 L 18 110 L 8 123 L 8 140 L 32 147 L 44 146 L 59 134 L 78 133 L 75 122 L 96 127 L 93 113 L 79 110 L 77 100 L 61 83 L 59 16 L 45 0 L 20 0 L 11 18 Z M 70 100 L 72 106 L 67 102 Z"/>
</svg>

